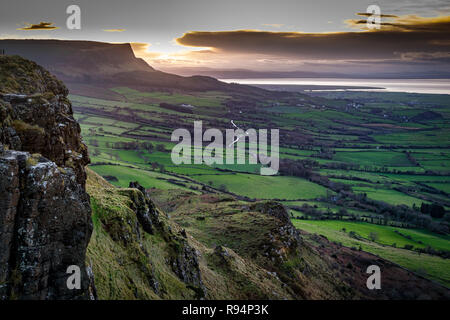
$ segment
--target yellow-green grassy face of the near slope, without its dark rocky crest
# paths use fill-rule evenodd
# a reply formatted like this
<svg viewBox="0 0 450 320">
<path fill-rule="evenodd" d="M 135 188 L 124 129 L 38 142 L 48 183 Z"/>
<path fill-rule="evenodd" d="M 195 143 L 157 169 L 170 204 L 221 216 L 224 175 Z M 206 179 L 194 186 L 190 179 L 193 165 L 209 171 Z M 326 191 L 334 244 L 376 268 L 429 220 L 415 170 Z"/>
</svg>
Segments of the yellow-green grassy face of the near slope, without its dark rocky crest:
<svg viewBox="0 0 450 320">
<path fill-rule="evenodd" d="M 169 249 L 161 234 L 141 231 L 136 239 L 130 226 L 136 224 L 127 192 L 117 189 L 88 170 L 87 191 L 91 196 L 94 231 L 87 250 L 87 264 L 92 263 L 100 299 L 192 299 L 194 293 L 173 273 L 165 259 Z M 119 231 L 112 233 L 105 221 L 117 221 Z M 109 224 L 108 224 L 109 225 Z M 114 224 L 112 224 L 114 226 Z M 123 245 L 119 237 L 133 239 Z M 150 256 L 140 250 L 141 244 Z M 152 290 L 149 278 L 154 276 L 161 294 Z"/>
</svg>

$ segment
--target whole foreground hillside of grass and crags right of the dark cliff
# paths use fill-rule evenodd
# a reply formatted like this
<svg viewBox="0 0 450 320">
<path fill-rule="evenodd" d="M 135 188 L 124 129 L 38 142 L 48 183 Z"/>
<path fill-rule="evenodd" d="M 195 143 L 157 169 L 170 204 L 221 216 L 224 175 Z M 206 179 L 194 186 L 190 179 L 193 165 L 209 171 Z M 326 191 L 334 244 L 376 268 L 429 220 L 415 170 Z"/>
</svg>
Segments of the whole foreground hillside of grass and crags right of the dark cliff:
<svg viewBox="0 0 450 320">
<path fill-rule="evenodd" d="M 131 186 L 138 190 L 88 170 L 87 264 L 99 299 L 449 298 L 386 260 L 300 233 L 277 202 Z M 382 291 L 366 287 L 372 264 L 383 268 Z"/>
</svg>

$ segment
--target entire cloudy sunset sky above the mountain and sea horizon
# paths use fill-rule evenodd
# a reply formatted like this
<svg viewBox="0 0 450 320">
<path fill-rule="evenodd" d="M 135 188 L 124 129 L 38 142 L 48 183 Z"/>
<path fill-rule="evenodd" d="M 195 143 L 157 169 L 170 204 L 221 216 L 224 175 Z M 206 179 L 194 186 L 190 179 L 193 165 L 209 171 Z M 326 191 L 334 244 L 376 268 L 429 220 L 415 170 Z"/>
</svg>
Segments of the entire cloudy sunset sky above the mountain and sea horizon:
<svg viewBox="0 0 450 320">
<path fill-rule="evenodd" d="M 79 30 L 66 27 L 72 4 Z M 369 5 L 381 10 L 380 29 L 358 15 Z M 0 38 L 130 42 L 175 73 L 428 74 L 450 70 L 450 1 L 14 0 L 0 3 Z"/>
</svg>

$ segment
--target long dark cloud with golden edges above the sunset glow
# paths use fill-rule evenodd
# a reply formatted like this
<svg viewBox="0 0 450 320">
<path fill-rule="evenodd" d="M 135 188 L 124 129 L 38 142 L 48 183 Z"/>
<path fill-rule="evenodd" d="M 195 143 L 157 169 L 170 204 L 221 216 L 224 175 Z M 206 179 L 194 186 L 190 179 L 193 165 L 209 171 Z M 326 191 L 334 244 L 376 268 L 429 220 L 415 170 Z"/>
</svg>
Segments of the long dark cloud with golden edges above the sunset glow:
<svg viewBox="0 0 450 320">
<path fill-rule="evenodd" d="M 348 23 L 358 26 L 366 21 L 349 20 Z M 365 31 L 191 31 L 176 41 L 184 46 L 205 47 L 221 53 L 263 54 L 309 60 L 370 60 L 402 59 L 402 54 L 408 52 L 450 52 L 448 39 L 450 16 L 403 16 L 383 23 L 381 29 Z M 442 57 L 442 54 L 439 56 Z"/>
</svg>

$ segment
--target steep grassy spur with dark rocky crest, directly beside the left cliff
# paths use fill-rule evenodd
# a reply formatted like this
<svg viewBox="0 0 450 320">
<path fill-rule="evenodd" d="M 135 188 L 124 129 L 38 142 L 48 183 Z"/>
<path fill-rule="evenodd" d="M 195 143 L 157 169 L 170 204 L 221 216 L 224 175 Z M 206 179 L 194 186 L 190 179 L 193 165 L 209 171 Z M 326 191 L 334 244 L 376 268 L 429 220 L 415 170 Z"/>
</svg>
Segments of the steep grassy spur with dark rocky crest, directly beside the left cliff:
<svg viewBox="0 0 450 320">
<path fill-rule="evenodd" d="M 99 299 L 198 299 L 198 254 L 147 192 L 118 189 L 88 170 L 94 231 L 87 251 Z"/>
</svg>

